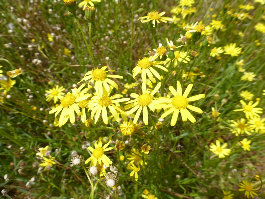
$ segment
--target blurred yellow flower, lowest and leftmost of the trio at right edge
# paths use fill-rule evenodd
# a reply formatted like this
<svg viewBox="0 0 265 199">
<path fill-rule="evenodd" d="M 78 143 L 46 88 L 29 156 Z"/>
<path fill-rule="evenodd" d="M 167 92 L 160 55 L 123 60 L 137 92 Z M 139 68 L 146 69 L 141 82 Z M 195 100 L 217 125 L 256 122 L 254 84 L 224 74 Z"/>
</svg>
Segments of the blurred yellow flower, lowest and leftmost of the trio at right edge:
<svg viewBox="0 0 265 199">
<path fill-rule="evenodd" d="M 254 133 L 254 128 L 252 126 L 249 126 L 249 124 L 246 123 L 246 119 L 241 118 L 240 121 L 233 121 L 233 124 L 230 124 L 233 129 L 230 129 L 232 133 L 235 133 L 236 136 L 243 135 L 244 133 L 251 135 L 251 133 Z"/>
</svg>

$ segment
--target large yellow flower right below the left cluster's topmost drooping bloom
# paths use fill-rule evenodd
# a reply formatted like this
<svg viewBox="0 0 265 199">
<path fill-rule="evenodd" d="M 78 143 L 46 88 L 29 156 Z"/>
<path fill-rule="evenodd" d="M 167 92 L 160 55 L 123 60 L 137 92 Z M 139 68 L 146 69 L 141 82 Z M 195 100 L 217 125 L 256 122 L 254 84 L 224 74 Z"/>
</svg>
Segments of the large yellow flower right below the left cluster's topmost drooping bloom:
<svg viewBox="0 0 265 199">
<path fill-rule="evenodd" d="M 110 88 L 110 92 L 111 90 L 112 87 Z M 116 94 L 109 97 L 110 92 L 103 90 L 102 94 L 96 93 L 89 102 L 89 110 L 91 110 L 91 118 L 94 118 L 94 115 L 96 114 L 95 124 L 99 119 L 100 113 L 102 113 L 102 119 L 104 124 L 109 123 L 107 115 L 107 107 L 109 108 L 111 114 L 114 116 L 117 122 L 120 121 L 120 117 L 117 111 L 120 111 L 121 114 L 127 115 L 122 109 L 117 107 L 114 103 L 125 102 L 130 100 L 130 98 L 121 98 L 123 96 L 120 94 Z M 121 99 L 116 99 L 116 98 L 121 98 Z"/>
</svg>

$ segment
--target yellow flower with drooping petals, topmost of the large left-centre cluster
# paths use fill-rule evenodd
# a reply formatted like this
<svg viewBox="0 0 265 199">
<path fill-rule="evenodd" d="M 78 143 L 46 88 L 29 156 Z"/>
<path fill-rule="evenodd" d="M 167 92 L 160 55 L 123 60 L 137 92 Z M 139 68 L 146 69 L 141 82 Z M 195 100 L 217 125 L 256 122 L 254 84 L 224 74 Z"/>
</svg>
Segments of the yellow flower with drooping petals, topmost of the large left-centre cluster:
<svg viewBox="0 0 265 199">
<path fill-rule="evenodd" d="M 83 80 L 87 81 L 89 79 L 89 82 L 94 82 L 94 88 L 96 89 L 96 93 L 99 93 L 100 95 L 103 94 L 103 87 L 105 88 L 105 90 L 107 92 L 110 92 L 110 86 L 108 85 L 108 83 L 110 85 L 112 85 L 114 88 L 116 88 L 118 90 L 118 85 L 117 83 L 115 83 L 113 80 L 109 79 L 109 78 L 119 78 L 122 79 L 123 77 L 120 75 L 107 75 L 106 73 L 111 71 L 114 72 L 115 70 L 107 70 L 108 67 L 107 66 L 103 66 L 101 69 L 99 68 L 94 68 L 93 70 L 87 72 L 85 74 L 85 77 L 80 81 L 82 82 Z M 78 84 L 80 83 L 78 82 Z"/>
</svg>

